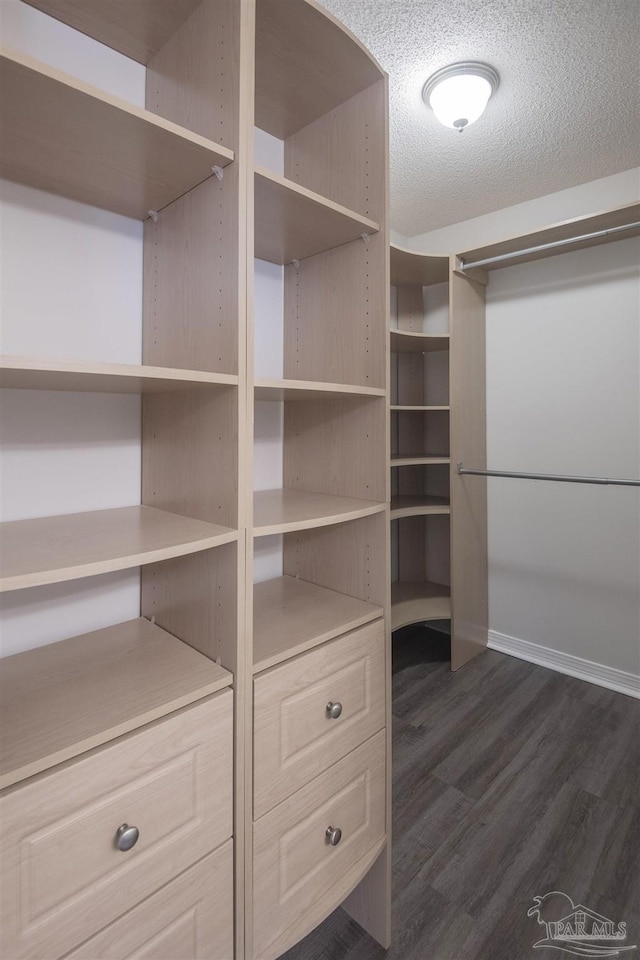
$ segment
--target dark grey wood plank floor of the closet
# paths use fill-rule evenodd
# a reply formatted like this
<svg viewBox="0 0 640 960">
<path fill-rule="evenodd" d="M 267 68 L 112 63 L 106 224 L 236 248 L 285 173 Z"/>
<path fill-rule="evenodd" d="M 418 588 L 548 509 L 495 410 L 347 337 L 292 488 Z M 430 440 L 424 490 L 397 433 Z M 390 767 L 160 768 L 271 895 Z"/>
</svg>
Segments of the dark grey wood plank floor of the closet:
<svg viewBox="0 0 640 960">
<path fill-rule="evenodd" d="M 337 910 L 286 960 L 561 960 L 535 896 L 618 923 L 640 960 L 640 703 L 446 638 L 394 643 L 393 945 Z"/>
</svg>

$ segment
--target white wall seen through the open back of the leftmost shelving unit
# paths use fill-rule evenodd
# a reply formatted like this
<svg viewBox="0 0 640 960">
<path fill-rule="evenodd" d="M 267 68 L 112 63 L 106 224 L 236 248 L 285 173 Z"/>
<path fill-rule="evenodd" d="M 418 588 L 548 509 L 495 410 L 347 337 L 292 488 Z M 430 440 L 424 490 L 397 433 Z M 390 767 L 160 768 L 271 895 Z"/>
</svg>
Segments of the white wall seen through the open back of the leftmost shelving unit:
<svg viewBox="0 0 640 960">
<path fill-rule="evenodd" d="M 133 103 L 144 68 L 39 11 L 3 0 L 3 42 Z M 0 349 L 140 363 L 142 224 L 0 182 Z M 5 390 L 0 519 L 140 502 L 137 396 Z M 140 613 L 137 571 L 3 594 L 1 652 Z"/>
</svg>

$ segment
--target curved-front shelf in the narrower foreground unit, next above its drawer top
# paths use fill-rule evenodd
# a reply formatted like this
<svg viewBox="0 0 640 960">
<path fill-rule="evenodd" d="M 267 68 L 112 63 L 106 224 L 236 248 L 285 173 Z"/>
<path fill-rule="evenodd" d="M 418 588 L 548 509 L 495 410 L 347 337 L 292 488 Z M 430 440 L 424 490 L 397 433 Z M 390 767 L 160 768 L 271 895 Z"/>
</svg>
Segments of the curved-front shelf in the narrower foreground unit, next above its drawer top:
<svg viewBox="0 0 640 960">
<path fill-rule="evenodd" d="M 310 530 L 369 517 L 385 508 L 386 504 L 377 500 L 333 497 L 306 490 L 261 490 L 253 495 L 253 533 L 266 537 L 290 530 Z"/>
</svg>

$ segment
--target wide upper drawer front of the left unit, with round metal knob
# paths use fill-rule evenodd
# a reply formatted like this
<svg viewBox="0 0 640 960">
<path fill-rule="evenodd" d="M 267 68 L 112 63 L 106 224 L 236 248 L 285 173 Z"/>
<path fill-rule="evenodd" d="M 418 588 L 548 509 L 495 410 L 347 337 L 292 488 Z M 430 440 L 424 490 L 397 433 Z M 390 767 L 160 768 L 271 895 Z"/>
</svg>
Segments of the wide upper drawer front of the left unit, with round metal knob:
<svg viewBox="0 0 640 960">
<path fill-rule="evenodd" d="M 225 690 L 0 798 L 5 956 L 61 956 L 231 835 L 232 704 Z"/>
</svg>

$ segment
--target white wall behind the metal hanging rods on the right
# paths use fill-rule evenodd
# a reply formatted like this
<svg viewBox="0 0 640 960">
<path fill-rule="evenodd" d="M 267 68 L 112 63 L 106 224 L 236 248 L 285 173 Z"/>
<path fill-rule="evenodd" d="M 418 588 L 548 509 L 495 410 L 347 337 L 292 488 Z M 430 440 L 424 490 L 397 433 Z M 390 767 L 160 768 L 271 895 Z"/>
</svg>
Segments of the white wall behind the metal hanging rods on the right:
<svg viewBox="0 0 640 960">
<path fill-rule="evenodd" d="M 461 250 L 631 203 L 639 173 L 403 244 Z M 626 239 L 490 274 L 489 467 L 640 478 L 639 265 L 640 240 Z M 631 688 L 640 675 L 640 490 L 492 479 L 488 509 L 494 645 Z"/>
</svg>

